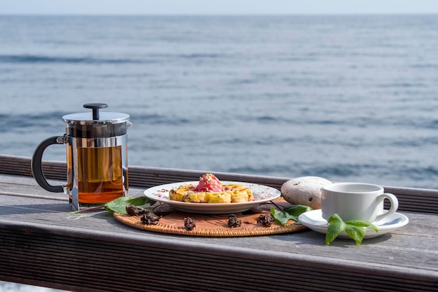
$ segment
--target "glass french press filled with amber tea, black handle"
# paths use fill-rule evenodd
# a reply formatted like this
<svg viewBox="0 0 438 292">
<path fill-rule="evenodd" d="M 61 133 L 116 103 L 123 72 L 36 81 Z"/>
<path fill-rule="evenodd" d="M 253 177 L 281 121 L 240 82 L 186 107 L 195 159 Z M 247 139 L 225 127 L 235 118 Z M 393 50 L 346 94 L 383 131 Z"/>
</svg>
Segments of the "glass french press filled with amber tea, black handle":
<svg viewBox="0 0 438 292">
<path fill-rule="evenodd" d="M 63 116 L 66 134 L 41 142 L 31 159 L 36 182 L 45 190 L 69 195 L 73 210 L 89 204 L 104 204 L 127 195 L 127 128 L 132 125 L 126 113 L 99 112 L 107 104 L 84 104 L 85 113 Z M 45 148 L 66 144 L 67 181 L 52 186 L 45 179 L 41 160 Z"/>
</svg>

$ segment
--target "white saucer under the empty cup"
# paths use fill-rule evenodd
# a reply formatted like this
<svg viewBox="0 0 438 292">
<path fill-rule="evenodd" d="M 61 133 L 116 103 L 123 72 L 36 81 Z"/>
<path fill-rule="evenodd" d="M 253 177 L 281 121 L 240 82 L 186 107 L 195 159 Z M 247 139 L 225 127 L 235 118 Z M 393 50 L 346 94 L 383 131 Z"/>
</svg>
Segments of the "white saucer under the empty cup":
<svg viewBox="0 0 438 292">
<path fill-rule="evenodd" d="M 313 231 L 324 234 L 327 233 L 327 220 L 323 218 L 323 213 L 321 209 L 307 211 L 299 215 L 298 221 L 299 223 L 302 223 L 302 225 L 305 225 Z M 374 229 L 367 228 L 367 234 L 364 238 L 372 238 L 384 235 L 385 233 L 391 232 L 393 230 L 396 230 L 397 228 L 401 228 L 404 225 L 407 225 L 408 222 L 409 218 L 407 218 L 407 216 L 395 212 L 394 214 L 382 218 L 381 220 L 374 223 L 379 229 L 379 232 L 374 231 Z M 338 237 L 350 238 L 345 231 L 339 233 Z"/>
</svg>

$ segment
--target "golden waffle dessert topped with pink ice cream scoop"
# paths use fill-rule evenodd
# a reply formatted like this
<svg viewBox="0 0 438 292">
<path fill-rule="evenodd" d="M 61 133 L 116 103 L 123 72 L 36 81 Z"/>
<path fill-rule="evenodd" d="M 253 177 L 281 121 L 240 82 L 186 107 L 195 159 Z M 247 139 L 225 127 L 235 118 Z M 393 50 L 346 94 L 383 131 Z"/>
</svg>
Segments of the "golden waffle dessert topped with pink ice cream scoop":
<svg viewBox="0 0 438 292">
<path fill-rule="evenodd" d="M 253 190 L 237 183 L 223 185 L 214 174 L 204 174 L 198 185 L 183 184 L 169 191 L 170 200 L 192 203 L 236 203 L 253 200 Z"/>
</svg>

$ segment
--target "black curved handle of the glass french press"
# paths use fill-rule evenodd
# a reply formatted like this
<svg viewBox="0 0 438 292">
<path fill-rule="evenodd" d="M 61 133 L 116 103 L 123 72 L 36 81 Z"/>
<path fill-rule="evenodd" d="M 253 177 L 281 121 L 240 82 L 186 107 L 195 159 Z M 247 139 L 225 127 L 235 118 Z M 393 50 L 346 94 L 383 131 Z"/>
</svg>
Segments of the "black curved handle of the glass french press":
<svg viewBox="0 0 438 292">
<path fill-rule="evenodd" d="M 53 136 L 48 139 L 45 139 L 38 145 L 38 147 L 36 147 L 34 155 L 32 156 L 32 160 L 31 160 L 32 174 L 34 175 L 34 178 L 38 183 L 38 185 L 40 185 L 45 190 L 48 190 L 49 192 L 62 193 L 64 192 L 64 187 L 52 186 L 45 179 L 45 176 L 43 174 L 43 167 L 41 163 L 41 161 L 43 160 L 43 152 L 45 148 L 47 148 L 52 144 L 65 144 L 66 142 L 67 142 L 66 136 Z"/>
</svg>

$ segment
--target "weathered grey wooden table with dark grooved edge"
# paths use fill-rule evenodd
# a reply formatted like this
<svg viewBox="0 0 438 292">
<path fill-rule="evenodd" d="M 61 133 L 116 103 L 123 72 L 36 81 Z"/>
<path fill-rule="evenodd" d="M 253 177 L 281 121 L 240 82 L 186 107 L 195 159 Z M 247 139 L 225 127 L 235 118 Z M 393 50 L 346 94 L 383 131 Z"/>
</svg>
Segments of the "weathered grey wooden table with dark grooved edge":
<svg viewBox="0 0 438 292">
<path fill-rule="evenodd" d="M 360 246 L 353 239 L 326 246 L 325 236 L 311 230 L 190 237 L 137 230 L 107 211 L 69 214 L 64 195 L 46 192 L 24 174 L 28 164 L 0 155 L 2 281 L 70 291 L 438 291 L 437 190 L 387 187 L 399 197 L 407 226 Z M 63 175 L 56 171 L 62 163 L 46 167 Z M 129 171 L 137 184 L 129 189 L 132 197 L 154 182 L 199 176 L 183 169 Z M 277 188 L 285 181 L 222 176 Z"/>
</svg>

